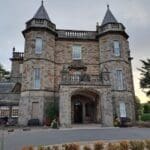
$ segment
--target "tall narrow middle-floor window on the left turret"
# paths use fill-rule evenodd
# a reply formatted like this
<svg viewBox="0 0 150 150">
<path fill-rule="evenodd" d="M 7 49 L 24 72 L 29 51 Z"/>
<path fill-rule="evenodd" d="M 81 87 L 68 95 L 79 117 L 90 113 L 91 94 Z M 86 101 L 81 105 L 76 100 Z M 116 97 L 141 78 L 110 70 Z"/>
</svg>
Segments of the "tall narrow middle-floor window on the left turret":
<svg viewBox="0 0 150 150">
<path fill-rule="evenodd" d="M 40 68 L 34 68 L 34 88 L 40 89 Z"/>
</svg>

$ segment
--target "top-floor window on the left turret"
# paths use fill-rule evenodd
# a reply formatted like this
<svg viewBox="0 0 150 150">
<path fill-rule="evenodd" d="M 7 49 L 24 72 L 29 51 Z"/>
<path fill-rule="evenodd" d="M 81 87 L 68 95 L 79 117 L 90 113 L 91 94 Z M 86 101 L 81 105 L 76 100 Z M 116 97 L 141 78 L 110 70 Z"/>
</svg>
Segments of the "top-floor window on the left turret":
<svg viewBox="0 0 150 150">
<path fill-rule="evenodd" d="M 35 40 L 35 53 L 36 54 L 41 54 L 42 53 L 42 48 L 43 48 L 42 38 L 36 38 L 36 40 Z"/>
</svg>

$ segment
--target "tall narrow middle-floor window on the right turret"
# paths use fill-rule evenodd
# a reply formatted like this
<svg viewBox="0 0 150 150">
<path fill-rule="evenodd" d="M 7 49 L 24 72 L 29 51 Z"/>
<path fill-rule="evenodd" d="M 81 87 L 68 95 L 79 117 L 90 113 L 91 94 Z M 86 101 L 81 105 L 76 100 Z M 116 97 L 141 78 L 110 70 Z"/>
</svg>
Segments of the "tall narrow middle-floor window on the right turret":
<svg viewBox="0 0 150 150">
<path fill-rule="evenodd" d="M 117 87 L 117 90 L 123 90 L 122 70 L 116 70 L 116 87 Z"/>
</svg>

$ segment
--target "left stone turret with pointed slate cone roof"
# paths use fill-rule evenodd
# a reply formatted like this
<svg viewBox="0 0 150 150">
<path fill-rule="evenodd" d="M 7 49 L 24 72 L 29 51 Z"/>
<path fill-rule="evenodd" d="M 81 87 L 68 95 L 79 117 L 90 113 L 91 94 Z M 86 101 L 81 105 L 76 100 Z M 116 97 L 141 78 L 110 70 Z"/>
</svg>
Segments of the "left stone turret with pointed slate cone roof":
<svg viewBox="0 0 150 150">
<path fill-rule="evenodd" d="M 56 36 L 56 26 L 51 22 L 43 1 L 26 23 L 23 35 L 25 50 L 19 123 L 26 125 L 29 119 L 39 119 L 42 124 L 46 103 L 53 101 L 54 96 Z"/>
</svg>

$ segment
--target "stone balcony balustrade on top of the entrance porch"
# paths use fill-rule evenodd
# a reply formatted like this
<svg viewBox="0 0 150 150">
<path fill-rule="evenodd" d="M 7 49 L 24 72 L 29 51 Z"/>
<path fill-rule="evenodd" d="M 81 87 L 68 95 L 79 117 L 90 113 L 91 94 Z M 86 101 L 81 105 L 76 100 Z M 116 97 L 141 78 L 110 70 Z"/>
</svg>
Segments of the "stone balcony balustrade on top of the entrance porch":
<svg viewBox="0 0 150 150">
<path fill-rule="evenodd" d="M 61 84 L 63 85 L 110 85 L 109 73 L 101 75 L 70 75 L 62 73 Z"/>
</svg>

